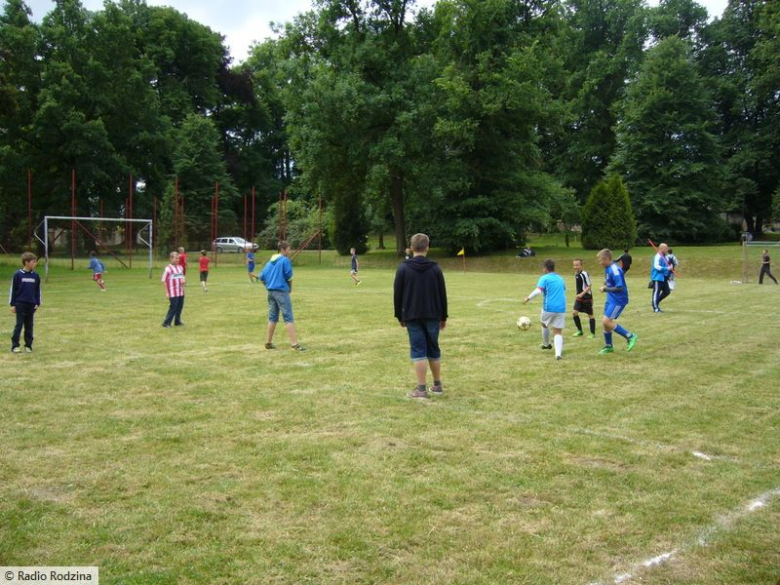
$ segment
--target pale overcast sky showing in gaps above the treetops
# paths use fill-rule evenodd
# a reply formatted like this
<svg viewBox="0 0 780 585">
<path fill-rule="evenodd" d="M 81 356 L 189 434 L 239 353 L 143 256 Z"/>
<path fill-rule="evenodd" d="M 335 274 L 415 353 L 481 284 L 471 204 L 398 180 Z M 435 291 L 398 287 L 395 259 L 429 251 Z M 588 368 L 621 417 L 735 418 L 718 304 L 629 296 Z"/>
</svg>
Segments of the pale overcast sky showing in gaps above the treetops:
<svg viewBox="0 0 780 585">
<path fill-rule="evenodd" d="M 2 0 L 0 0 L 2 2 Z M 710 18 L 723 14 L 727 0 L 698 0 L 707 8 Z M 5 4 L 5 2 L 2 2 Z M 240 63 L 249 54 L 255 41 L 273 36 L 270 23 L 284 23 L 296 14 L 311 9 L 310 0 L 146 0 L 149 6 L 172 6 L 191 19 L 205 24 L 213 31 L 225 36 L 225 43 L 235 63 Z M 435 0 L 418 0 L 418 6 L 430 6 Z M 657 5 L 658 0 L 649 0 Z M 54 7 L 52 0 L 27 0 L 33 12 L 33 19 L 40 20 Z M 101 10 L 103 0 L 82 0 L 88 10 Z"/>
</svg>

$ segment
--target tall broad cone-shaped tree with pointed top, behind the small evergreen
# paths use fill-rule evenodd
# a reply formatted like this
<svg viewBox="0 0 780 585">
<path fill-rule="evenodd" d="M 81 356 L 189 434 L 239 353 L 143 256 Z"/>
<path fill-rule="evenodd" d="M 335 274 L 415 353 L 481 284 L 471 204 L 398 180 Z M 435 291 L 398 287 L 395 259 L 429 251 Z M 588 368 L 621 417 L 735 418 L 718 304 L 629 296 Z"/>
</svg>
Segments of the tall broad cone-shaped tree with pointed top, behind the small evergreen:
<svg viewBox="0 0 780 585">
<path fill-rule="evenodd" d="M 626 179 L 643 236 L 725 237 L 714 121 L 689 44 L 670 37 L 650 49 L 628 89 L 612 164 Z"/>
</svg>

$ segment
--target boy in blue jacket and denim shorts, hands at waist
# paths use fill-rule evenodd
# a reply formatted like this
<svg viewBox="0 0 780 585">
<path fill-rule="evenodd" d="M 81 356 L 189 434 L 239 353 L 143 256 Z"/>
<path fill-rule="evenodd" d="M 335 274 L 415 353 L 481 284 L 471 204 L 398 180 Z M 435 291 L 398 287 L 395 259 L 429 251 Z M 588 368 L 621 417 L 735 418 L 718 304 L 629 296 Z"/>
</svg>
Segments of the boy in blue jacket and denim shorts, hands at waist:
<svg viewBox="0 0 780 585">
<path fill-rule="evenodd" d="M 287 335 L 290 337 L 290 348 L 293 351 L 306 351 L 298 343 L 298 337 L 295 333 L 295 320 L 292 313 L 292 301 L 290 292 L 292 291 L 292 262 L 290 255 L 290 244 L 285 241 L 279 242 L 277 246 L 278 254 L 271 256 L 271 259 L 263 266 L 259 279 L 265 284 L 268 291 L 268 334 L 265 340 L 266 349 L 276 349 L 274 345 L 274 333 L 276 324 L 279 322 L 279 313 L 282 314 L 284 326 L 287 329 Z"/>
</svg>

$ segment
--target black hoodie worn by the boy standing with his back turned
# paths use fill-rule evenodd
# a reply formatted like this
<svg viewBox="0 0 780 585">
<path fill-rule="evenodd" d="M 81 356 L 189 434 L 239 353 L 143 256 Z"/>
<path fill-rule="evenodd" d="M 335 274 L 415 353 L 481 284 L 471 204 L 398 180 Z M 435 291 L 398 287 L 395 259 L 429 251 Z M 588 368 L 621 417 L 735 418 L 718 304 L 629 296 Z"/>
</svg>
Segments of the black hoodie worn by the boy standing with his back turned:
<svg viewBox="0 0 780 585">
<path fill-rule="evenodd" d="M 404 260 L 393 283 L 395 318 L 400 322 L 416 319 L 447 320 L 447 289 L 436 262 L 425 256 Z"/>
</svg>

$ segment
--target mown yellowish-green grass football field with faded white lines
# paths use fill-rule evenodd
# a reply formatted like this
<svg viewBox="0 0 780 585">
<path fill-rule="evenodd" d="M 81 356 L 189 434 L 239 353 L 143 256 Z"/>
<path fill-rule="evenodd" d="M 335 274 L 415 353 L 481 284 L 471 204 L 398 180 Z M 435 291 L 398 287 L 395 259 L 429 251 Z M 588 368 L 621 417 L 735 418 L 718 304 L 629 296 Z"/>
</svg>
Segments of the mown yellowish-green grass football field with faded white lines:
<svg viewBox="0 0 780 585">
<path fill-rule="evenodd" d="M 539 262 L 570 288 L 573 257 L 600 271 L 538 244 L 467 272 L 441 258 L 430 401 L 406 398 L 390 252 L 362 258 L 360 287 L 348 258 L 299 258 L 303 354 L 281 328 L 263 348 L 264 290 L 237 257 L 207 294 L 191 277 L 173 329 L 162 262 L 152 279 L 108 262 L 107 293 L 53 263 L 35 353 L 0 354 L 0 565 L 98 565 L 103 584 L 778 583 L 780 287 L 732 284 L 737 247 L 680 248 L 655 315 L 638 250 L 634 352 L 598 356 L 569 320 L 555 362 L 515 326 L 538 314 L 521 299 Z"/>
</svg>

